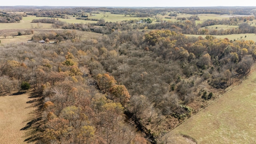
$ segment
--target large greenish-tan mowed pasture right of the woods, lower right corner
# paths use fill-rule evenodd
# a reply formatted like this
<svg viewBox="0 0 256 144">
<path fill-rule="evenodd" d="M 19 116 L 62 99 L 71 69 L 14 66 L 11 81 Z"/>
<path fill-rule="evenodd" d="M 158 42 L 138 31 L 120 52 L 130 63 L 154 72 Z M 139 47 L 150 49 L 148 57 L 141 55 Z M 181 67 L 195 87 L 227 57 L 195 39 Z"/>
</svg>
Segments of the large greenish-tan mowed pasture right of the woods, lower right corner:
<svg viewBox="0 0 256 144">
<path fill-rule="evenodd" d="M 256 72 L 168 132 L 169 144 L 255 144 Z"/>
</svg>

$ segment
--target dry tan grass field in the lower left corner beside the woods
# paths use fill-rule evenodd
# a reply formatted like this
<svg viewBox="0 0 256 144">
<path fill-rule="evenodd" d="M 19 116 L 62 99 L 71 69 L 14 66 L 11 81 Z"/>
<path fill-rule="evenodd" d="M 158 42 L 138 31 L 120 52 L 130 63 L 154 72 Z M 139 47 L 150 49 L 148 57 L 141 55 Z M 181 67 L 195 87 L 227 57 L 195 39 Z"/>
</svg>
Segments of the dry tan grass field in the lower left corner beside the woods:
<svg viewBox="0 0 256 144">
<path fill-rule="evenodd" d="M 34 108 L 31 93 L 0 96 L 0 143 L 26 144 L 26 131 L 21 130 L 31 120 Z"/>
</svg>

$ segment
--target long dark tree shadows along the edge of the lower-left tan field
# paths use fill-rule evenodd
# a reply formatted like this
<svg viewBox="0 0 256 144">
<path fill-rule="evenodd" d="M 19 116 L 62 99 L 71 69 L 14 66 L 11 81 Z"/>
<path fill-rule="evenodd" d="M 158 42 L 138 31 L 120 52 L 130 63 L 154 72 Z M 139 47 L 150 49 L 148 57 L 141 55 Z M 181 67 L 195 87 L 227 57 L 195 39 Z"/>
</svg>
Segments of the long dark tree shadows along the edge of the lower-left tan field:
<svg viewBox="0 0 256 144">
<path fill-rule="evenodd" d="M 31 98 L 32 100 L 29 100 L 26 103 L 32 104 L 34 111 L 30 113 L 30 117 L 28 118 L 28 120 L 26 120 L 28 121 L 26 126 L 21 128 L 20 130 L 26 131 L 26 139 L 24 140 L 24 142 L 30 143 L 40 139 L 40 125 L 42 124 L 43 98 L 41 94 L 37 92 L 30 93 L 30 96 L 28 98 Z"/>
</svg>

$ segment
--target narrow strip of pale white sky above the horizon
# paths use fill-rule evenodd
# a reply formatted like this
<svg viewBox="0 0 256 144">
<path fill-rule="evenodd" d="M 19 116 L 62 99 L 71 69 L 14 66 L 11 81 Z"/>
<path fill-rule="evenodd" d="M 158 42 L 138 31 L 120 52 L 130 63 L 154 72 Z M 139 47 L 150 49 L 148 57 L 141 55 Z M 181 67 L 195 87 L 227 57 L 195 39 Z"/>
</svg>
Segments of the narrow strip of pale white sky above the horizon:
<svg viewBox="0 0 256 144">
<path fill-rule="evenodd" d="M 194 7 L 256 6 L 256 0 L 2 0 L 0 6 Z"/>
</svg>

